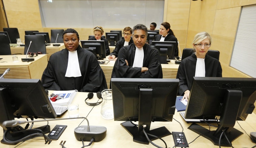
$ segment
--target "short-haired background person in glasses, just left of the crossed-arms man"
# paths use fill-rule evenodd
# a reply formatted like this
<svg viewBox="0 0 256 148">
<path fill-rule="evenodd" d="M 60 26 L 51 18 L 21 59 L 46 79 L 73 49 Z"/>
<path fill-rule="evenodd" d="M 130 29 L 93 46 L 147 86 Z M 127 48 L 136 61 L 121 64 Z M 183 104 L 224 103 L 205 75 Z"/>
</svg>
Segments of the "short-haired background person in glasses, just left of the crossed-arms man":
<svg viewBox="0 0 256 148">
<path fill-rule="evenodd" d="M 124 39 L 118 41 L 116 43 L 116 48 L 114 49 L 113 52 L 110 53 L 110 55 L 108 56 L 108 60 L 117 60 L 118 57 L 118 52 L 119 50 L 127 45 L 131 45 L 133 43 L 133 40 L 131 39 L 132 36 L 132 28 L 131 27 L 125 27 L 123 30 L 123 34 L 124 34 Z"/>
</svg>

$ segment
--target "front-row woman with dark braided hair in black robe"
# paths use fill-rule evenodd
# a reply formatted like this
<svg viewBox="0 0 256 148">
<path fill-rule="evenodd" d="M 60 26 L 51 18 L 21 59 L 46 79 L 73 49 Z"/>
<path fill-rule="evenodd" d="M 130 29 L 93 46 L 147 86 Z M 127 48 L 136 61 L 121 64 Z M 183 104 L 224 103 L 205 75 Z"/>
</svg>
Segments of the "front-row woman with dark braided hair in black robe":
<svg viewBox="0 0 256 148">
<path fill-rule="evenodd" d="M 51 55 L 41 81 L 44 89 L 98 92 L 107 89 L 105 75 L 93 53 L 79 45 L 79 35 L 66 29 L 65 49 Z"/>
</svg>

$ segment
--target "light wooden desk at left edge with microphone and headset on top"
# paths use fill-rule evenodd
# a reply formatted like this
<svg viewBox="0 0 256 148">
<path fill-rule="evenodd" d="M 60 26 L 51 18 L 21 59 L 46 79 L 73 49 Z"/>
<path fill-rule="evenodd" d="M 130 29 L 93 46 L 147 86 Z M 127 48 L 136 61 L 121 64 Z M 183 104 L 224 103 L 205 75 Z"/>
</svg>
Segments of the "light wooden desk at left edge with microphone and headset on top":
<svg viewBox="0 0 256 148">
<path fill-rule="evenodd" d="M 0 61 L 0 73 L 3 73 L 7 68 L 10 68 L 4 78 L 15 79 L 41 79 L 44 69 L 47 66 L 47 56 L 38 55 L 34 57 L 35 61 L 22 62 L 22 58 L 26 58 L 26 55 L 18 56 L 18 62 L 12 62 L 13 55 L 0 56 L 3 58 Z"/>
</svg>

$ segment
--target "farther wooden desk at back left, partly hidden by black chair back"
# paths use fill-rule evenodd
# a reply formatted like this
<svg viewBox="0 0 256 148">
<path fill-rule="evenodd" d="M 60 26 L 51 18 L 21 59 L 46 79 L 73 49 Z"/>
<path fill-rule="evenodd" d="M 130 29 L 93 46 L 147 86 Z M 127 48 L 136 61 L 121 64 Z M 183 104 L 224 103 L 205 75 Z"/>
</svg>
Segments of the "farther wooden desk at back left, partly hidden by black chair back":
<svg viewBox="0 0 256 148">
<path fill-rule="evenodd" d="M 56 53 L 62 49 L 65 48 L 64 43 L 58 43 L 60 46 L 53 46 L 55 43 L 51 43 L 51 45 L 46 46 L 46 54 L 47 54 L 47 60 L 49 60 L 50 56 L 53 53 Z M 11 54 L 24 54 L 24 46 L 22 47 L 10 47 L 11 48 Z"/>
</svg>

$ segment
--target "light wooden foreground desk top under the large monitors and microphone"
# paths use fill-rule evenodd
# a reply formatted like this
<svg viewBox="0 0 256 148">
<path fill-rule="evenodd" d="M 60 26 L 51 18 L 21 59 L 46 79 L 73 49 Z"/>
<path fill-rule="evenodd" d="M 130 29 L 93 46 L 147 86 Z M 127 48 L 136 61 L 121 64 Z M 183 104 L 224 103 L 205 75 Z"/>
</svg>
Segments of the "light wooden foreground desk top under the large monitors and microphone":
<svg viewBox="0 0 256 148">
<path fill-rule="evenodd" d="M 49 94 L 50 93 L 51 92 L 49 92 Z M 152 144 L 144 145 L 144 144 L 139 144 L 139 143 L 133 142 L 132 136 L 130 136 L 130 134 L 120 125 L 121 123 L 123 123 L 123 121 L 102 119 L 101 115 L 100 115 L 101 104 L 98 106 L 95 106 L 95 107 L 88 106 L 84 102 L 86 97 L 87 97 L 87 93 L 78 92 L 73 100 L 74 103 L 75 102 L 79 103 L 80 117 L 86 117 L 88 115 L 88 113 L 90 112 L 90 110 L 93 108 L 87 117 L 90 125 L 91 126 L 104 126 L 107 128 L 106 137 L 100 142 L 94 142 L 90 147 L 92 147 L 92 148 L 100 148 L 100 147 L 113 147 L 113 148 L 118 148 L 118 147 L 123 147 L 123 148 L 131 148 L 131 147 L 134 147 L 134 148 L 145 147 L 146 148 L 147 147 L 148 148 L 148 147 L 152 147 L 152 148 L 154 148 L 155 147 Z M 96 94 L 94 94 L 94 97 L 87 101 L 97 102 L 97 100 L 98 100 L 98 98 L 96 97 Z M 68 117 L 68 113 L 66 112 L 61 118 L 67 118 L 67 117 Z M 179 121 L 182 124 L 187 141 L 189 143 L 192 142 L 198 136 L 198 134 L 187 129 L 191 123 L 189 123 L 189 124 L 186 123 L 182 119 L 182 117 L 179 115 L 178 112 L 175 112 L 175 115 L 173 117 L 174 117 L 174 119 L 176 119 L 177 121 Z M 256 128 L 255 128 L 256 120 L 255 119 L 256 119 L 256 115 L 251 114 L 251 115 L 248 115 L 246 121 L 238 121 L 238 123 L 248 134 L 250 134 L 250 132 L 256 131 Z M 25 119 L 21 119 L 21 120 L 25 120 Z M 61 135 L 59 140 L 57 140 L 57 141 L 54 140 L 54 141 L 52 141 L 51 144 L 44 145 L 44 140 L 41 137 L 38 137 L 35 139 L 28 140 L 19 146 L 17 146 L 17 145 L 15 145 L 15 146 L 17 146 L 18 148 L 19 147 L 22 147 L 22 148 L 31 148 L 31 147 L 33 147 L 33 148 L 35 148 L 35 147 L 56 148 L 56 147 L 61 147 L 59 144 L 63 140 L 63 141 L 66 141 L 64 146 L 67 148 L 82 147 L 82 142 L 77 141 L 74 136 L 74 129 L 76 127 L 78 127 L 82 121 L 83 121 L 83 119 L 77 119 L 77 120 L 72 120 L 72 121 L 71 120 L 50 121 L 49 125 L 51 126 L 51 128 L 53 128 L 56 124 L 67 125 L 66 130 Z M 34 127 L 39 127 L 39 126 L 43 126 L 46 124 L 47 124 L 46 122 L 45 123 L 37 122 L 37 123 L 34 123 Z M 84 122 L 82 122 L 81 125 L 87 125 L 87 122 L 84 121 Z M 205 124 L 201 124 L 201 125 L 207 128 L 207 126 Z M 25 125 L 22 125 L 22 126 L 25 126 Z M 155 129 L 155 128 L 162 127 L 162 126 L 165 126 L 170 132 L 181 132 L 182 131 L 182 127 L 175 120 L 173 120 L 172 122 L 153 122 L 151 124 L 151 129 Z M 241 129 L 241 127 L 239 127 L 239 125 L 237 123 L 235 124 L 234 127 L 237 130 L 243 132 L 244 134 L 232 142 L 233 147 L 241 148 L 241 147 L 252 147 L 255 145 L 255 143 L 251 142 L 250 138 L 245 134 L 245 132 Z M 214 129 L 216 129 L 216 128 L 211 127 L 211 130 L 214 130 Z M 3 136 L 2 128 L 0 129 L 0 131 L 1 131 L 0 138 L 2 138 L 2 136 Z M 167 143 L 168 147 L 174 146 L 172 135 L 163 137 L 162 139 Z M 159 146 L 164 147 L 164 144 L 161 140 L 154 140 L 153 142 Z M 89 142 L 85 142 L 85 145 L 87 145 L 88 143 Z M 15 146 L 0 144 L 0 147 L 6 147 L 6 148 L 13 148 Z M 189 147 L 191 147 L 191 148 L 195 148 L 195 147 L 196 148 L 205 148 L 205 147 L 218 148 L 219 146 L 213 145 L 212 142 L 210 142 L 209 140 L 200 136 L 194 142 L 189 144 Z"/>
</svg>

